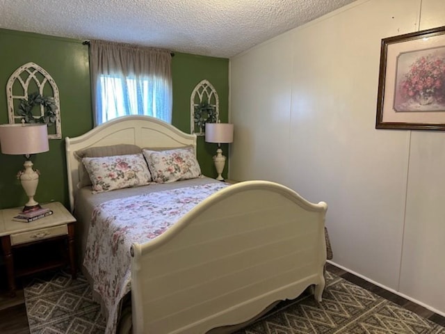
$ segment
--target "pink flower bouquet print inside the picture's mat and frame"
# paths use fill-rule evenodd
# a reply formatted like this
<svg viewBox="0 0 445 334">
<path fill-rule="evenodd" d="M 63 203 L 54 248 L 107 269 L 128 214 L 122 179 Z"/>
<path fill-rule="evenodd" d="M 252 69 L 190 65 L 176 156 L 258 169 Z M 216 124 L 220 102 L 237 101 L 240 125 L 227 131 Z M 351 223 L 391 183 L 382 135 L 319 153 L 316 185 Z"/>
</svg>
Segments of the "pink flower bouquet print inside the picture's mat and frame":
<svg viewBox="0 0 445 334">
<path fill-rule="evenodd" d="M 445 47 L 398 56 L 396 111 L 445 111 Z"/>
</svg>

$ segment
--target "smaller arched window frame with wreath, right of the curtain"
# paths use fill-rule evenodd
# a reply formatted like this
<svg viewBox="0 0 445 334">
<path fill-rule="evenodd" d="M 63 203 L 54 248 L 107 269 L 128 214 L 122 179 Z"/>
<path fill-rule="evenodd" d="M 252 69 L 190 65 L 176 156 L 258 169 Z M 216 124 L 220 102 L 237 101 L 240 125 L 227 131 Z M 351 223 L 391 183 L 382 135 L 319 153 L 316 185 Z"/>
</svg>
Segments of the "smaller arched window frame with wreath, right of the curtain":
<svg viewBox="0 0 445 334">
<path fill-rule="evenodd" d="M 190 98 L 190 114 L 191 133 L 197 136 L 204 136 L 207 121 L 218 122 L 219 120 L 220 100 L 218 93 L 206 79 L 202 80 L 193 89 Z"/>
</svg>

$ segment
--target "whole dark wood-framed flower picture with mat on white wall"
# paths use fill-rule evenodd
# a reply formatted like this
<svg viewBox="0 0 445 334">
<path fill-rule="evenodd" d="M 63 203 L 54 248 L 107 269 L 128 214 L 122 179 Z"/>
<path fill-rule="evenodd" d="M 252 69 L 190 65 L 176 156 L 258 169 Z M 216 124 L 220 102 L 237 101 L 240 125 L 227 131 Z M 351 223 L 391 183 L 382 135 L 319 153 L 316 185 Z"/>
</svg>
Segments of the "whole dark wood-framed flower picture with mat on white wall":
<svg viewBox="0 0 445 334">
<path fill-rule="evenodd" d="M 445 130 L 445 26 L 382 39 L 375 128 Z"/>
</svg>

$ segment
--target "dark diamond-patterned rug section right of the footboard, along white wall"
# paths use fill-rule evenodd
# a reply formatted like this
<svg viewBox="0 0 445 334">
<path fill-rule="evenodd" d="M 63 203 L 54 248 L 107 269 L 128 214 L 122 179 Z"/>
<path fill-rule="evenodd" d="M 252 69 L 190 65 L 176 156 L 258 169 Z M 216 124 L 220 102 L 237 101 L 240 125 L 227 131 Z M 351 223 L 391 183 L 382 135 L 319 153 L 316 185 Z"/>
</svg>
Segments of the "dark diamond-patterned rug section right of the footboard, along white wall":
<svg viewBox="0 0 445 334">
<path fill-rule="evenodd" d="M 283 301 L 236 334 L 445 334 L 445 328 L 414 312 L 326 273 L 323 301 L 305 294 Z"/>
</svg>

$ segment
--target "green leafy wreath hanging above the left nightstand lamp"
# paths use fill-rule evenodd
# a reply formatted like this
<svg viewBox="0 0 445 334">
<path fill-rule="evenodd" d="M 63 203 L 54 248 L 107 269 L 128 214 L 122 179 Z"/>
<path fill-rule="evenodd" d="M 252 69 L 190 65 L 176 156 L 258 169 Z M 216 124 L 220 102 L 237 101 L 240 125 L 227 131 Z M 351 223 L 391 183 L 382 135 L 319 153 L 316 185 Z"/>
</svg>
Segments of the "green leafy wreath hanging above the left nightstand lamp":
<svg viewBox="0 0 445 334">
<path fill-rule="evenodd" d="M 43 116 L 33 116 L 33 109 L 37 105 L 43 106 Z M 56 102 L 54 102 L 54 97 L 31 93 L 28 95 L 28 100 L 20 100 L 18 115 L 23 117 L 25 123 L 52 124 L 56 122 L 56 111 L 57 106 Z"/>
</svg>

